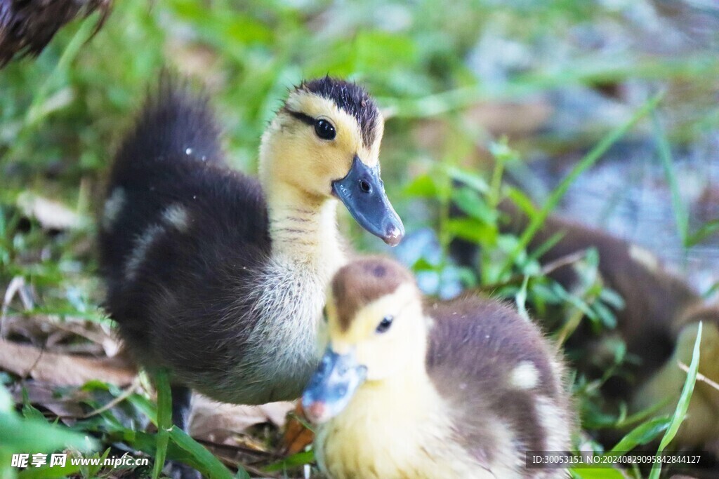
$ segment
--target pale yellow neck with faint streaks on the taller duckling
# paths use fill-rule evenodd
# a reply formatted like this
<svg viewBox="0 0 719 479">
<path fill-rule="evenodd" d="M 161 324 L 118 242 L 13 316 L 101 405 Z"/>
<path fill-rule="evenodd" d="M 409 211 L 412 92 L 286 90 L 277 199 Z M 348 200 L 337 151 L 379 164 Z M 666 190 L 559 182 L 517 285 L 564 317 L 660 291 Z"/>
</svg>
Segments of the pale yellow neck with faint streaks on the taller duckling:
<svg viewBox="0 0 719 479">
<path fill-rule="evenodd" d="M 280 263 L 325 266 L 329 274 L 344 264 L 334 198 L 307 197 L 284 188 L 270 190 L 267 209 L 273 258 Z"/>
</svg>

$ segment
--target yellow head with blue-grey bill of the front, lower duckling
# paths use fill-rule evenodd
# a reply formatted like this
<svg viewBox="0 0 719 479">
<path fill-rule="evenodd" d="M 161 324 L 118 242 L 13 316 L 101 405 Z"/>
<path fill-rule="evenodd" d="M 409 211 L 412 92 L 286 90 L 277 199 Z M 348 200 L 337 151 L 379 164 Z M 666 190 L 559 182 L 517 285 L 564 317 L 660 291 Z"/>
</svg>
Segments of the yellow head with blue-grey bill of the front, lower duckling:
<svg viewBox="0 0 719 479">
<path fill-rule="evenodd" d="M 326 303 L 327 347 L 302 396 L 313 422 L 342 412 L 359 386 L 424 366 L 422 299 L 409 271 L 370 257 L 337 271 Z"/>
</svg>

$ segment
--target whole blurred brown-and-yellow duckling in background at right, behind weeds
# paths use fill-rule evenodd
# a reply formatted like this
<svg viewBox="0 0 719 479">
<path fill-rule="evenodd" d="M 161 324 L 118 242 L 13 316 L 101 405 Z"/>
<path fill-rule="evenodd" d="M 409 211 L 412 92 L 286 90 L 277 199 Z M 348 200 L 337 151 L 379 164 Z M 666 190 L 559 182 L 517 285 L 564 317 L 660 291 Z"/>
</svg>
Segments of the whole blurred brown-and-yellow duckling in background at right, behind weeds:
<svg viewBox="0 0 719 479">
<path fill-rule="evenodd" d="M 508 202 L 500 205 L 508 217 L 505 228 L 519 233 L 527 218 Z M 665 404 L 672 413 L 679 400 L 692 361 L 692 353 L 700 321 L 703 322 L 700 343 L 700 368 L 709 381 L 719 383 L 719 307 L 707 306 L 702 297 L 680 278 L 667 271 L 659 259 L 632 243 L 596 228 L 564 220 L 556 215 L 547 218 L 544 227 L 532 239 L 528 249 L 534 251 L 556 235 L 561 239 L 539 258 L 551 264 L 588 248 L 599 254 L 599 272 L 605 286 L 620 294 L 624 307 L 615 310 L 617 327 L 597 335 L 585 324 L 570 338 L 568 347 L 580 350 L 577 367 L 590 377 L 600 377 L 606 367 L 597 363 L 613 363 L 613 354 L 604 352 L 602 340 L 618 338 L 626 343 L 633 362 L 623 366 L 623 375 L 613 376 L 602 385 L 604 398 L 610 406 L 629 404 L 632 411 L 643 411 L 656 404 Z M 549 276 L 566 289 L 578 281 L 572 265 L 551 271 Z M 605 358 L 605 356 L 607 356 Z M 623 432 L 605 431 L 608 445 Z M 679 449 L 709 447 L 719 441 L 719 391 L 707 381 L 697 381 L 690 409 L 673 445 Z"/>
</svg>

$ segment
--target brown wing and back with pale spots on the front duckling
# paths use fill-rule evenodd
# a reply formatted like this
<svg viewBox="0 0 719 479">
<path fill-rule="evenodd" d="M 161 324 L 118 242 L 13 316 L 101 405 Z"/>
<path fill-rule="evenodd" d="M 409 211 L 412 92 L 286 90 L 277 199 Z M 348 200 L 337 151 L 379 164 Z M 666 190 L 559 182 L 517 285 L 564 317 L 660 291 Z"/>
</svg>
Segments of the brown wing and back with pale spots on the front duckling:
<svg viewBox="0 0 719 479">
<path fill-rule="evenodd" d="M 496 472 L 521 468 L 528 451 L 568 447 L 562 366 L 539 328 L 477 297 L 441 304 L 433 317 L 427 371 L 473 457 Z"/>
</svg>

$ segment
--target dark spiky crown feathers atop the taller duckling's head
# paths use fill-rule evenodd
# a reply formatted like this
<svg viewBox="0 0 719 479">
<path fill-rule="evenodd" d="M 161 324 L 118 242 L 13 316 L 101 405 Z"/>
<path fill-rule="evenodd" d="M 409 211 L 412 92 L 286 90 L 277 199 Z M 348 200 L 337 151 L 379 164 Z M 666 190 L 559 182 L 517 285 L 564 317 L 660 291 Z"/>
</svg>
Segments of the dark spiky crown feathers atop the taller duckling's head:
<svg viewBox="0 0 719 479">
<path fill-rule="evenodd" d="M 334 101 L 337 108 L 353 116 L 359 124 L 365 147 L 369 147 L 377 139 L 380 111 L 377 110 L 372 97 L 361 86 L 326 76 L 303 82 L 297 89 Z"/>
</svg>

